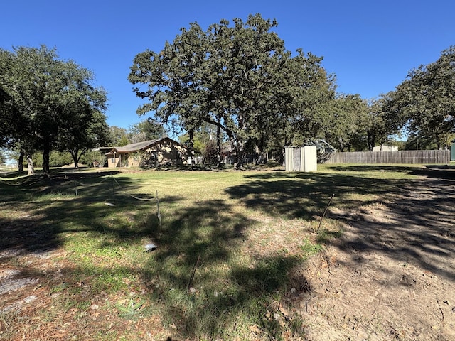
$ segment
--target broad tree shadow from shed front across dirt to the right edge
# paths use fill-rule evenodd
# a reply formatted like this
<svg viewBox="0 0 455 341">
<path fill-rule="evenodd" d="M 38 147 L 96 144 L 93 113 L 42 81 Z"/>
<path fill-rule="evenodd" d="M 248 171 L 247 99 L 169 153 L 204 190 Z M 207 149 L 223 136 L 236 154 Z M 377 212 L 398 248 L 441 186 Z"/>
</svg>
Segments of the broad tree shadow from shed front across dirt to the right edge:
<svg viewBox="0 0 455 341">
<path fill-rule="evenodd" d="M 337 210 L 328 212 L 327 217 L 353 227 L 353 232 L 320 241 L 351 252 L 351 265 L 355 265 L 358 252 L 374 251 L 455 281 L 455 181 L 451 169 L 331 168 L 343 173 L 247 175 L 250 183 L 227 192 L 252 209 L 305 220 L 319 219 L 335 194 L 331 208 Z M 419 178 L 372 178 L 370 171 L 402 172 Z M 374 217 L 375 212 L 385 217 Z"/>
</svg>

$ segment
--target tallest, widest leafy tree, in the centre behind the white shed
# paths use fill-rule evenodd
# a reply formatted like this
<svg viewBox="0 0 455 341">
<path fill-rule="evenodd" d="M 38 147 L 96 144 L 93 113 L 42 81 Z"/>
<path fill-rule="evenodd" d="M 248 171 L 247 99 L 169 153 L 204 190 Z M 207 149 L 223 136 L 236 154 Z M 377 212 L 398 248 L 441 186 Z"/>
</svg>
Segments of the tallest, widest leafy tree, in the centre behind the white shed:
<svg viewBox="0 0 455 341">
<path fill-rule="evenodd" d="M 248 141 L 263 150 L 279 136 L 284 146 L 296 130 L 321 121 L 334 92 L 322 58 L 301 50 L 292 57 L 272 31 L 276 21 L 257 14 L 233 22 L 182 28 L 163 50 L 139 53 L 129 81 L 149 99 L 138 114 L 154 112 L 190 133 L 203 122 L 218 126 L 241 167 Z"/>
</svg>

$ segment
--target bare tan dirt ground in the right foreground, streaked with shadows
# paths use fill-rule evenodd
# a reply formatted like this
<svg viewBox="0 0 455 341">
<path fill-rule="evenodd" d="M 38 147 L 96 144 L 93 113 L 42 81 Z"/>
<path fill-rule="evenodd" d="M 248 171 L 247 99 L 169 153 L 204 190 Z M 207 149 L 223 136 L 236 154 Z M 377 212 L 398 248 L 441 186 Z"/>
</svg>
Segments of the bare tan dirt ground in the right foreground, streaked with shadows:
<svg viewBox="0 0 455 341">
<path fill-rule="evenodd" d="M 455 181 L 427 176 L 398 193 L 331 210 L 343 235 L 289 297 L 306 340 L 455 340 Z"/>
</svg>

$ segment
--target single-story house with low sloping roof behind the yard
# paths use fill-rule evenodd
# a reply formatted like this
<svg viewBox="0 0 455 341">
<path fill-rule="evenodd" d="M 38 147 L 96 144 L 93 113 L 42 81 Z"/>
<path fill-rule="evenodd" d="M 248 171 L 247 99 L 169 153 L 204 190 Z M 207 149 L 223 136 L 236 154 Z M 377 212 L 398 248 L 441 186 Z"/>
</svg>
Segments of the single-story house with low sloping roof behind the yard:
<svg viewBox="0 0 455 341">
<path fill-rule="evenodd" d="M 106 153 L 107 166 L 115 167 L 158 167 L 178 166 L 186 162 L 186 147 L 177 141 L 164 137 L 163 139 L 127 144 L 113 147 Z"/>
</svg>

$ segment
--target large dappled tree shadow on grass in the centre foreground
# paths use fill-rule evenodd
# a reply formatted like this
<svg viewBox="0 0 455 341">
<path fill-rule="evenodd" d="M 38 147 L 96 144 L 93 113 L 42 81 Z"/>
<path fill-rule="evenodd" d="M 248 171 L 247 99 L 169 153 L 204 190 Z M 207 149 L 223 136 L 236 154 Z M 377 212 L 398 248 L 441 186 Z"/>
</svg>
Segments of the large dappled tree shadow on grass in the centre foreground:
<svg viewBox="0 0 455 341">
<path fill-rule="evenodd" d="M 286 288 L 288 272 L 300 258 L 252 261 L 242 256 L 246 234 L 257 222 L 223 200 L 183 207 L 173 217 L 164 217 L 161 225 L 151 216 L 148 224 L 158 249 L 145 268 L 144 283 L 163 303 L 161 318 L 176 328 L 178 337 L 215 340 L 235 332 L 236 324 L 258 325 L 264 340 L 280 337 L 282 325 L 264 315 L 270 298 Z"/>
</svg>

